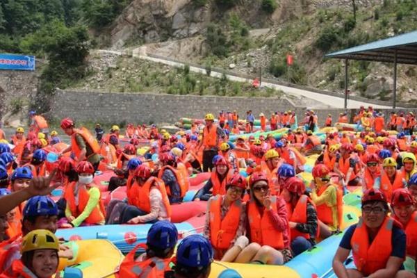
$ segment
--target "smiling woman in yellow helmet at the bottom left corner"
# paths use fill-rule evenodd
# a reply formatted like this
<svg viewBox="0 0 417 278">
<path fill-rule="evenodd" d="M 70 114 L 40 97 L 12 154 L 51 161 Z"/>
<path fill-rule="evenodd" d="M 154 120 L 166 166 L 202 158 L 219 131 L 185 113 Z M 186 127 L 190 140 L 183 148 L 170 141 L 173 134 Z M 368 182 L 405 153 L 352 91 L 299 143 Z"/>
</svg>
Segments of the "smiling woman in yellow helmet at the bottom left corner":
<svg viewBox="0 0 417 278">
<path fill-rule="evenodd" d="M 45 229 L 31 231 L 22 240 L 22 258 L 13 261 L 1 278 L 51 278 L 59 264 L 59 241 Z"/>
</svg>

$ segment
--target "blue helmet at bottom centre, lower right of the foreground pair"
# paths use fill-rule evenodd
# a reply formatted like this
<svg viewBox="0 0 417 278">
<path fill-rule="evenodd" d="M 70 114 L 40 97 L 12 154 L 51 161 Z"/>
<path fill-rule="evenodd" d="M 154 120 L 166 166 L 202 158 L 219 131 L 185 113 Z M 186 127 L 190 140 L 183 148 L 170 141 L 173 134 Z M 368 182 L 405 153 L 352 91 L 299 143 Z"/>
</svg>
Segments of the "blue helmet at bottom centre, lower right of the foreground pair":
<svg viewBox="0 0 417 278">
<path fill-rule="evenodd" d="M 193 234 L 178 245 L 177 263 L 189 268 L 207 267 L 213 261 L 211 243 L 202 235 Z"/>
</svg>

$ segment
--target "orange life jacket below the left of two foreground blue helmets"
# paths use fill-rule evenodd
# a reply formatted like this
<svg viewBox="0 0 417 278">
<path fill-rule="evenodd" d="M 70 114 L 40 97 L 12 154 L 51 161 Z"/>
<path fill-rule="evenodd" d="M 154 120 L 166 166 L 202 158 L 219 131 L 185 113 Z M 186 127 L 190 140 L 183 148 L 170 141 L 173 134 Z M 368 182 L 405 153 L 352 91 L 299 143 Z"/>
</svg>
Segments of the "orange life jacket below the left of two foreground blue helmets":
<svg viewBox="0 0 417 278">
<path fill-rule="evenodd" d="M 160 259 L 153 257 L 145 261 L 135 261 L 135 254 L 139 248 L 147 249 L 147 245 L 136 245 L 129 254 L 124 257 L 120 265 L 119 277 L 123 278 L 163 278 L 166 271 L 170 271 L 171 258 Z"/>
</svg>

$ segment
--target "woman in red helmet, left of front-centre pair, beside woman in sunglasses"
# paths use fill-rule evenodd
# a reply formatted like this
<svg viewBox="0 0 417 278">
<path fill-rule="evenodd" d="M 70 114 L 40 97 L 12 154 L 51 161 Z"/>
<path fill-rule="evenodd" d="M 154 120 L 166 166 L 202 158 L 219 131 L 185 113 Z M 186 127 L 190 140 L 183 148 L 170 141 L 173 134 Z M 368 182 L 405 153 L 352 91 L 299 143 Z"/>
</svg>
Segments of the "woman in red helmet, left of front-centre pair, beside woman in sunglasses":
<svg viewBox="0 0 417 278">
<path fill-rule="evenodd" d="M 234 174 L 226 184 L 226 194 L 208 200 L 204 236 L 211 241 L 214 258 L 233 262 L 249 243 L 245 237 L 246 213 L 242 203 L 247 187 L 245 177 Z"/>
</svg>

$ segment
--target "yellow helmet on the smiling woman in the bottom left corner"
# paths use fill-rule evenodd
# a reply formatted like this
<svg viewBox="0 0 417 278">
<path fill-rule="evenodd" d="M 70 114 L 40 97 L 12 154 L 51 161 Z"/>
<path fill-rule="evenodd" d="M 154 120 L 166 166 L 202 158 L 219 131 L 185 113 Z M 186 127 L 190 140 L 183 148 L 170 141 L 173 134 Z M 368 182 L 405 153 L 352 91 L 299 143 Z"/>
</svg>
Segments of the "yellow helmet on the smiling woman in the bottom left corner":
<svg viewBox="0 0 417 278">
<path fill-rule="evenodd" d="M 58 238 L 56 238 L 54 233 L 48 230 L 33 230 L 24 236 L 22 253 L 42 249 L 59 251 Z"/>
</svg>

